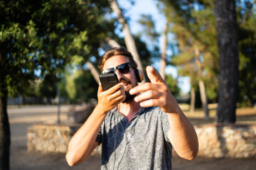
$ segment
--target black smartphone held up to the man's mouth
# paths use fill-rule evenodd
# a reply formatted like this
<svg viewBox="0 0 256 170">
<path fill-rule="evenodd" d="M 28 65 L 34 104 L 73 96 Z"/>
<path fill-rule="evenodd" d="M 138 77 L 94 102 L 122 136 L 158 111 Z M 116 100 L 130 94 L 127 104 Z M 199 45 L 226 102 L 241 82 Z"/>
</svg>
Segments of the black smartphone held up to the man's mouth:
<svg viewBox="0 0 256 170">
<path fill-rule="evenodd" d="M 100 74 L 99 78 L 104 91 L 119 83 L 115 73 Z"/>
</svg>

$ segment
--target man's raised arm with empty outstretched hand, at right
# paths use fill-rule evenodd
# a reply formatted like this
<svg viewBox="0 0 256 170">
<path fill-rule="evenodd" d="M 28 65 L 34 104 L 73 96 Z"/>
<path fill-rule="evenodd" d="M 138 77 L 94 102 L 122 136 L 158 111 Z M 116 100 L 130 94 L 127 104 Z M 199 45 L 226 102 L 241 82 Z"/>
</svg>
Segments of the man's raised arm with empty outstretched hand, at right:
<svg viewBox="0 0 256 170">
<path fill-rule="evenodd" d="M 134 101 L 140 102 L 140 106 L 159 106 L 161 111 L 167 113 L 169 119 L 168 138 L 174 146 L 177 154 L 184 159 L 194 159 L 198 153 L 198 138 L 193 125 L 179 108 L 174 96 L 159 72 L 153 67 L 146 67 L 146 74 L 151 83 L 135 86 L 130 94 L 139 94 Z"/>
</svg>

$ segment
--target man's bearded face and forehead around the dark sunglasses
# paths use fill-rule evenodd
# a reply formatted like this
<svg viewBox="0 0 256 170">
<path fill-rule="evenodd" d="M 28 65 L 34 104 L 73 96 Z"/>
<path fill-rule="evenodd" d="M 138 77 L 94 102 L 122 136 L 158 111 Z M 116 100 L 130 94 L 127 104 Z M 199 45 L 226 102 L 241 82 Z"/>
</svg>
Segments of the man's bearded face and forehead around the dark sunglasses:
<svg viewBox="0 0 256 170">
<path fill-rule="evenodd" d="M 106 60 L 103 70 L 110 69 L 113 67 L 117 67 L 120 64 L 124 64 L 129 62 L 129 58 L 125 57 L 123 55 L 115 55 L 113 57 L 110 57 Z M 137 86 L 137 78 L 135 76 L 134 68 L 131 67 L 131 71 L 127 73 L 121 73 L 118 69 L 115 70 L 115 74 L 117 74 L 117 78 L 119 82 L 124 83 L 124 91 L 127 96 L 125 101 L 130 101 L 134 98 L 134 96 L 129 95 L 129 90 L 132 89 L 134 86 Z"/>
</svg>

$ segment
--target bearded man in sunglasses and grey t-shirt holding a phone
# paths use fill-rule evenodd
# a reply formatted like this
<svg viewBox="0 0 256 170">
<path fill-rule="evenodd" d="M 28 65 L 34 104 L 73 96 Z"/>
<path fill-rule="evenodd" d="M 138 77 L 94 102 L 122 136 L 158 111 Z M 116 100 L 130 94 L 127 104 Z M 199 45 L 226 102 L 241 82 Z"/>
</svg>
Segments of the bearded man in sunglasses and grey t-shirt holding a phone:
<svg viewBox="0 0 256 170">
<path fill-rule="evenodd" d="M 131 53 L 117 47 L 102 56 L 100 70 L 115 72 L 120 83 L 107 91 L 100 84 L 97 106 L 68 145 L 70 166 L 100 143 L 102 169 L 171 169 L 172 147 L 180 157 L 196 157 L 193 125 L 156 69 L 146 67 L 151 82 L 137 85 L 142 77 Z"/>
</svg>

